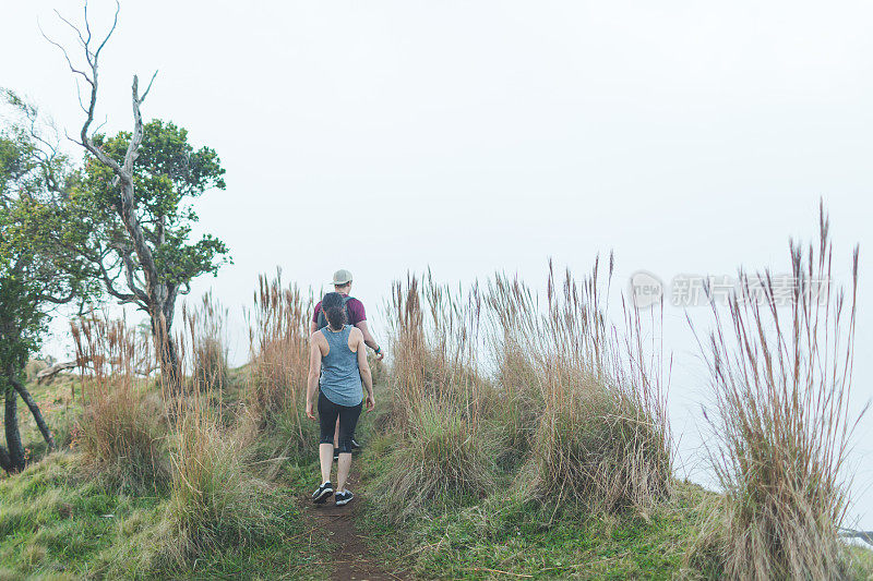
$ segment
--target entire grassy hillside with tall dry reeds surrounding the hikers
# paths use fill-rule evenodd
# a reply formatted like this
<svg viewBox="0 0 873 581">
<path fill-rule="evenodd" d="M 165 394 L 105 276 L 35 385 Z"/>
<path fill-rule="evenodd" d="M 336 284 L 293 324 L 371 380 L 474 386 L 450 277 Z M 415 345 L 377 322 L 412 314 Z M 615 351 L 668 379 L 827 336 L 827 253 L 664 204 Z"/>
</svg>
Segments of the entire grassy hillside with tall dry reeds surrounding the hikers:
<svg viewBox="0 0 873 581">
<path fill-rule="evenodd" d="M 297 287 L 261 278 L 236 370 L 226 311 L 210 295 L 183 310 L 181 386 L 136 373 L 151 341 L 122 322 L 77 322 L 82 360 L 103 363 L 84 384 L 28 383 L 61 449 L 46 455 L 22 414 L 29 468 L 0 481 L 0 578 L 335 579 L 364 561 L 407 579 L 873 578 L 873 554 L 837 535 L 845 320 L 798 303 L 793 337 L 769 342 L 743 332 L 775 311 L 737 300 L 717 319 L 716 494 L 675 477 L 656 316 L 611 323 L 598 267 L 550 271 L 542 301 L 502 276 L 395 283 L 391 362 L 371 361 L 378 411 L 344 513 L 307 509 L 318 424 L 303 413 L 312 301 Z M 337 531 L 356 553 L 335 553 Z"/>
</svg>

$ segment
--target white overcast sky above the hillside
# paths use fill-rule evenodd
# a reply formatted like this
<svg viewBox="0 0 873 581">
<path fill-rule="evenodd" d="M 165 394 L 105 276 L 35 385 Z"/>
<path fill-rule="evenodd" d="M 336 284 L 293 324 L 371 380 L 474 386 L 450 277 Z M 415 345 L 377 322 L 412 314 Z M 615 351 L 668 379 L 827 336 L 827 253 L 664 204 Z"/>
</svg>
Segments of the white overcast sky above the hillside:
<svg viewBox="0 0 873 581">
<path fill-rule="evenodd" d="M 39 34 L 52 9 L 0 0 L 0 86 L 77 131 L 73 77 Z M 92 3 L 95 33 L 113 3 Z M 862 252 L 856 396 L 873 363 L 873 4 L 803 1 L 227 2 L 125 0 L 101 61 L 100 119 L 129 129 L 133 73 L 159 70 L 146 118 L 214 147 L 227 190 L 198 203 L 236 264 L 204 278 L 239 312 L 259 273 L 320 287 L 355 274 L 380 330 L 391 280 L 430 266 L 540 286 L 614 249 L 646 269 L 786 270 L 824 197 L 837 264 Z M 673 425 L 695 473 L 705 375 L 679 308 Z M 242 319 L 236 323 L 241 329 Z M 237 332 L 244 354 L 244 334 Z M 240 355 L 241 356 L 241 355 Z M 853 515 L 873 526 L 873 416 Z"/>
</svg>

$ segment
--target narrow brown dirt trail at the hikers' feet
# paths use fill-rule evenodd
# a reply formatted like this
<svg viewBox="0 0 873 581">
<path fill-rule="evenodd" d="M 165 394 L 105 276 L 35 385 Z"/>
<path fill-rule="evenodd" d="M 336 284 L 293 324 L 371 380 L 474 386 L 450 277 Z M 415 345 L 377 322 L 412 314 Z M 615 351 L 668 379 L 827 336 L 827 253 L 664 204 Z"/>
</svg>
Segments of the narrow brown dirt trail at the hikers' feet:
<svg viewBox="0 0 873 581">
<path fill-rule="evenodd" d="M 368 549 L 368 540 L 360 535 L 355 525 L 355 516 L 361 509 L 361 500 L 366 492 L 358 488 L 358 474 L 352 462 L 348 479 L 348 488 L 355 493 L 355 499 L 346 506 L 338 507 L 331 498 L 323 505 L 313 505 L 309 499 L 307 512 L 312 517 L 319 530 L 324 531 L 336 549 L 330 562 L 334 568 L 332 579 L 336 581 L 396 581 L 406 580 L 402 573 L 386 571 Z"/>
</svg>

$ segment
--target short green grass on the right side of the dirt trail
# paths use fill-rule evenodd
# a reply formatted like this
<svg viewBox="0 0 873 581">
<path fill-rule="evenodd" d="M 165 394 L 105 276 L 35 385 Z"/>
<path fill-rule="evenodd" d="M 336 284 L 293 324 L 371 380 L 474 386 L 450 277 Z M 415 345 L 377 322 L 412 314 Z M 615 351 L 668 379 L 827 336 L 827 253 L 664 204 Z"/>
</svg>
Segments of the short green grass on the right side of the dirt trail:
<svg viewBox="0 0 873 581">
<path fill-rule="evenodd" d="M 366 481 L 391 467 L 392 435 L 369 435 Z M 524 471 L 505 471 L 483 499 L 442 495 L 397 526 L 378 506 L 361 510 L 374 557 L 416 579 L 718 579 L 686 556 L 716 494 L 674 483 L 670 499 L 645 512 L 585 515 L 529 499 Z M 850 548 L 853 579 L 873 579 L 873 552 Z"/>
</svg>

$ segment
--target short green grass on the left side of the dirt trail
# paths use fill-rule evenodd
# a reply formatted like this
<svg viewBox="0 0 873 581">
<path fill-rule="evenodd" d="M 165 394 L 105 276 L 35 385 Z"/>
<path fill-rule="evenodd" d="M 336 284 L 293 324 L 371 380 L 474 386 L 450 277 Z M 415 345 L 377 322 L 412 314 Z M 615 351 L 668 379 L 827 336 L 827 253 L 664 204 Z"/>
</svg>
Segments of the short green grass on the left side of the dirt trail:
<svg viewBox="0 0 873 581">
<path fill-rule="evenodd" d="M 58 452 L 0 482 L 0 579 L 186 578 L 311 579 L 326 543 L 297 506 L 309 482 L 296 465 L 280 476 L 282 537 L 222 547 L 179 568 L 159 559 L 166 498 L 112 489 Z"/>
</svg>

